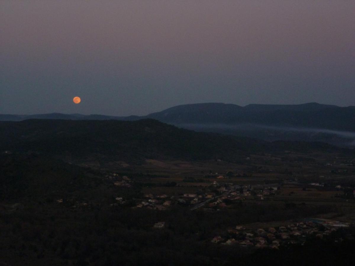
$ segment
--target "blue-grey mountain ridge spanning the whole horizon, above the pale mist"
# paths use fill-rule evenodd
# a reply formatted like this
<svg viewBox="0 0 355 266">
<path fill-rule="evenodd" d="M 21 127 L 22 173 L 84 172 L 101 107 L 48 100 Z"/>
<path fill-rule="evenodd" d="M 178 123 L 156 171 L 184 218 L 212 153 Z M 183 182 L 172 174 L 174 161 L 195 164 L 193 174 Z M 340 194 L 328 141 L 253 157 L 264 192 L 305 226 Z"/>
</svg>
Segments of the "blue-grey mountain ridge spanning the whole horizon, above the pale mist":
<svg viewBox="0 0 355 266">
<path fill-rule="evenodd" d="M 153 118 L 171 124 L 262 124 L 279 127 L 324 128 L 355 132 L 355 106 L 339 107 L 316 102 L 298 105 L 223 103 L 186 104 L 147 116 L 105 116 L 49 113 L 42 115 L 0 115 L 0 121 L 27 119 L 125 120 Z"/>
</svg>

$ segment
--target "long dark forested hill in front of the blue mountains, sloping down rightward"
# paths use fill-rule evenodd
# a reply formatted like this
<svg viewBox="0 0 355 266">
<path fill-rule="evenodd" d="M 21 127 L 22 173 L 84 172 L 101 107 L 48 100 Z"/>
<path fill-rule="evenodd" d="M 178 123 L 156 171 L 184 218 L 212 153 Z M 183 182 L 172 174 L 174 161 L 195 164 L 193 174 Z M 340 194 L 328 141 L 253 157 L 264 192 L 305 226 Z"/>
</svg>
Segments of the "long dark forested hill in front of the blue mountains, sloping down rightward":
<svg viewBox="0 0 355 266">
<path fill-rule="evenodd" d="M 194 132 L 152 119 L 138 121 L 25 120 L 0 122 L 0 152 L 62 156 L 233 160 L 275 150 L 334 150 L 328 144 L 265 142 L 217 133 Z"/>
</svg>

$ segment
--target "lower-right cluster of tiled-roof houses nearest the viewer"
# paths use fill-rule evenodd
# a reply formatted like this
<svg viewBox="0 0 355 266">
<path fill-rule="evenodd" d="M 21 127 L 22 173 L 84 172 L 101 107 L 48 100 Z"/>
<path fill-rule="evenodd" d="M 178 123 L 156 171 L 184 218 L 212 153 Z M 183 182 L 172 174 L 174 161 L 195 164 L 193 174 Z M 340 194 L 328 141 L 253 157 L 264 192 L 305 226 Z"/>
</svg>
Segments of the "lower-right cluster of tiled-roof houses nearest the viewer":
<svg viewBox="0 0 355 266">
<path fill-rule="evenodd" d="M 228 229 L 228 237 L 214 237 L 212 243 L 223 245 L 239 244 L 241 246 L 253 246 L 255 248 L 278 249 L 283 244 L 303 244 L 307 238 L 326 238 L 339 227 L 348 227 L 346 223 L 327 221 L 315 223 L 312 221 L 298 222 L 288 226 L 246 229 L 243 226 L 236 226 L 235 229 Z"/>
</svg>

